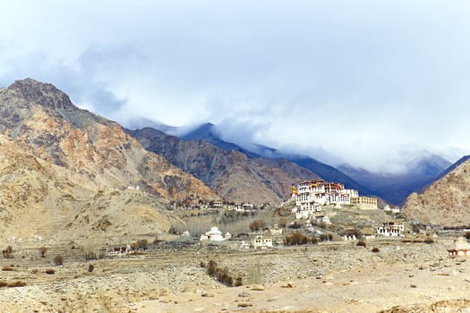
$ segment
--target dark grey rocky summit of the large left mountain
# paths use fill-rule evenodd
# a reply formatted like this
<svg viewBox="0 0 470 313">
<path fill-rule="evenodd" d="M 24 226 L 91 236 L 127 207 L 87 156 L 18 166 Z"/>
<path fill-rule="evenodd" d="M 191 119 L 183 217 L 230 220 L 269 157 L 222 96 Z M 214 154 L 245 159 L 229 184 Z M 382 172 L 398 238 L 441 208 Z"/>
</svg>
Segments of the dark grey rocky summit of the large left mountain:
<svg viewBox="0 0 470 313">
<path fill-rule="evenodd" d="M 6 91 L 13 93 L 16 97 L 52 109 L 71 109 L 75 107 L 70 98 L 61 90 L 56 89 L 54 85 L 30 78 L 16 80 Z"/>
</svg>

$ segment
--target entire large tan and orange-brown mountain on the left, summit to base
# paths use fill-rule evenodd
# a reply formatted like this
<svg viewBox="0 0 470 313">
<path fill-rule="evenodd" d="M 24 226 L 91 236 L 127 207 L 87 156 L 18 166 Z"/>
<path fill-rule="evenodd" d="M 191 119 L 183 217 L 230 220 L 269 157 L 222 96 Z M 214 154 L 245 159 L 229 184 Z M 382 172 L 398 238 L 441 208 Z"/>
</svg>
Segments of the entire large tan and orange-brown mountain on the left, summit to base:
<svg viewBox="0 0 470 313">
<path fill-rule="evenodd" d="M 2 236 L 155 233 L 179 223 L 168 201 L 218 199 L 51 84 L 26 79 L 0 89 L 0 132 Z"/>
</svg>

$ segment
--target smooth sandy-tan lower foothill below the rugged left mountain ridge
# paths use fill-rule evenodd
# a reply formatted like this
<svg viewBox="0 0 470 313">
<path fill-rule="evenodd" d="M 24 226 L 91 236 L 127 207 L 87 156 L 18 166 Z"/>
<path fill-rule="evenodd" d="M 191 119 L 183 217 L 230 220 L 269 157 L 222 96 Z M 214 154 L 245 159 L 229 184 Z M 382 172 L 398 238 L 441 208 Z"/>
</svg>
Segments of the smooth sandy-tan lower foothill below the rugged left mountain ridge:
<svg viewBox="0 0 470 313">
<path fill-rule="evenodd" d="M 95 190 L 77 178 L 0 135 L 0 240 L 132 236 L 165 232 L 178 223 L 149 193 Z"/>
</svg>

